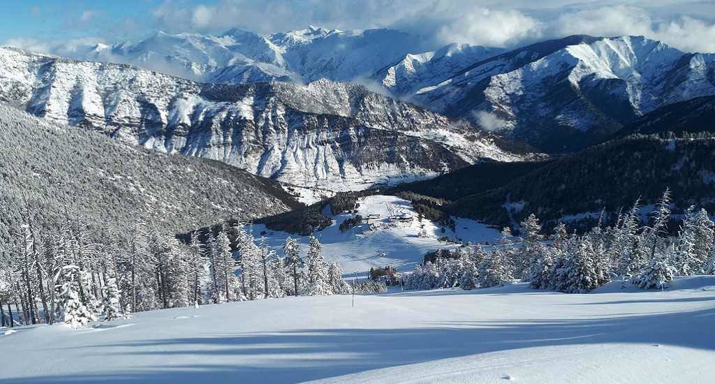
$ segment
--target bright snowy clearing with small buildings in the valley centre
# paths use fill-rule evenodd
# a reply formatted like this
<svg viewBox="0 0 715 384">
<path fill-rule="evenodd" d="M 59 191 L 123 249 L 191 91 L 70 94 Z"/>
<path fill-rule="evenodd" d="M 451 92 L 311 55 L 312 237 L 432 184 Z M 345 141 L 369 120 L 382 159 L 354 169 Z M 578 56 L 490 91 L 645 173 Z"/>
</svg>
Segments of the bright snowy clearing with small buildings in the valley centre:
<svg viewBox="0 0 715 384">
<path fill-rule="evenodd" d="M 342 214 L 332 216 L 330 210 L 325 214 L 332 217 L 332 225 L 322 231 L 314 233 L 322 243 L 323 255 L 327 262 L 340 262 L 346 274 L 357 273 L 365 276 L 371 267 L 384 267 L 393 265 L 398 270 L 412 270 L 423 261 L 425 253 L 442 249 L 458 247 L 453 242 L 438 240 L 440 237 L 460 239 L 464 242 L 490 242 L 498 241 L 501 237 L 498 230 L 487 227 L 474 220 L 455 217 L 455 231 L 435 225 L 430 220 L 418 220 L 411 203 L 395 196 L 375 195 L 360 199 L 358 212 L 355 214 Z M 345 232 L 340 232 L 340 224 L 355 215 L 368 217 L 379 215 L 379 218 L 370 224 L 358 225 Z M 413 217 L 412 222 L 394 222 L 390 216 Z M 406 216 L 405 216 L 406 215 Z M 373 229 L 370 229 L 370 227 Z M 420 237 L 422 228 L 427 234 Z M 267 230 L 265 225 L 254 225 L 253 235 L 259 239 L 265 232 L 267 245 L 282 253 L 281 247 L 286 237 L 290 234 L 280 231 Z M 292 235 L 299 243 L 301 251 L 305 254 L 309 238 L 307 236 Z"/>
</svg>

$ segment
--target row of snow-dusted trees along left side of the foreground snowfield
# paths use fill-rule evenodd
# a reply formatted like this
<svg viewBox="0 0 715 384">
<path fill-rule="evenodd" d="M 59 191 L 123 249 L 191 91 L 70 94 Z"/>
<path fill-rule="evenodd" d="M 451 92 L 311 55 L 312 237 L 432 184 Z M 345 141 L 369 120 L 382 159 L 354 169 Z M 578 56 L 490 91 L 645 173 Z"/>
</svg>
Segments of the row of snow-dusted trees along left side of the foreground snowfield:
<svg viewBox="0 0 715 384">
<path fill-rule="evenodd" d="M 90 225 L 66 216 L 58 227 L 38 225 L 27 210 L 21 225 L 0 242 L 1 325 L 64 322 L 81 328 L 133 312 L 286 295 L 383 292 L 373 283 L 350 287 L 337 263 L 322 257 L 310 237 L 302 255 L 287 239 L 285 257 L 237 227 L 188 244 L 159 227 L 137 223 L 127 230 Z"/>
</svg>

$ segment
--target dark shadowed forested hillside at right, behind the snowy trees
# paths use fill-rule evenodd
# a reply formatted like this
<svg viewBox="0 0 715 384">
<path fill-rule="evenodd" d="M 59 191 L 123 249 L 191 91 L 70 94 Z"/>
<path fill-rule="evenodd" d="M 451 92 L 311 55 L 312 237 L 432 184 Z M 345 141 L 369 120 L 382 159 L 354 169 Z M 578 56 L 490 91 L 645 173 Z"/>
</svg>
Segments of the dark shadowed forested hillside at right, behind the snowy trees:
<svg viewBox="0 0 715 384">
<path fill-rule="evenodd" d="M 714 149 L 712 135 L 700 139 L 633 135 L 560 157 L 501 187 L 462 197 L 445 211 L 502 227 L 534 214 L 551 231 L 563 217 L 605 208 L 608 224 L 613 225 L 622 207 L 639 197 L 644 205 L 656 204 L 668 185 L 679 213 L 692 204 L 715 212 Z M 521 207 L 512 210 L 506 202 L 520 202 Z M 573 220 L 569 227 L 579 225 L 583 233 L 593 224 L 588 219 Z"/>
</svg>

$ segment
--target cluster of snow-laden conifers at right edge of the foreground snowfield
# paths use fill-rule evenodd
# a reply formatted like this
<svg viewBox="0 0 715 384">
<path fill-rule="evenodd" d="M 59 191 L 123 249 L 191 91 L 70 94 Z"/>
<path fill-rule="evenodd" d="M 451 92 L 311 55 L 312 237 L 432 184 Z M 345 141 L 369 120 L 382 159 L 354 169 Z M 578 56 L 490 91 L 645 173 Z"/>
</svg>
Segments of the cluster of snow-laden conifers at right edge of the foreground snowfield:
<svg viewBox="0 0 715 384">
<path fill-rule="evenodd" d="M 666 190 L 649 225 L 641 225 L 636 202 L 614 225 L 599 220 L 591 230 L 575 235 L 561 224 L 550 238 L 530 215 L 521 222 L 523 237 L 516 241 L 505 228 L 501 244 L 490 251 L 469 245 L 448 255 L 442 250 L 430 255 L 415 267 L 406 287 L 470 290 L 518 279 L 538 289 L 582 293 L 610 281 L 648 289 L 668 287 L 675 275 L 715 275 L 714 225 L 706 210 L 690 207 L 677 235 L 669 236 L 670 207 Z"/>
</svg>

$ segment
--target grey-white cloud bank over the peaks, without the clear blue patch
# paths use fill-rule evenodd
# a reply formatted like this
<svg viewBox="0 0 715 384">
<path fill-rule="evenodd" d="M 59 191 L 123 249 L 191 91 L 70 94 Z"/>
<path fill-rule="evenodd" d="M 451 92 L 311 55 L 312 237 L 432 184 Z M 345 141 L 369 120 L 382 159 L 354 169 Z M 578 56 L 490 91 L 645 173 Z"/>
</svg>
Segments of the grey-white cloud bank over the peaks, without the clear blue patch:
<svg viewBox="0 0 715 384">
<path fill-rule="evenodd" d="M 32 11 L 38 11 L 36 6 Z M 239 28 L 270 34 L 314 24 L 330 29 L 398 29 L 424 36 L 425 50 L 450 43 L 514 48 L 570 34 L 591 34 L 644 35 L 683 51 L 715 52 L 712 1 L 218 0 L 204 4 L 165 0 L 148 13 L 148 25 L 138 29 L 137 39 L 157 30 L 217 34 Z M 84 9 L 69 24 L 79 28 L 100 23 L 97 15 L 101 14 L 101 9 Z M 115 24 L 137 29 L 137 23 L 129 21 Z M 61 54 L 78 40 L 114 42 L 116 35 L 112 29 L 107 36 L 69 43 L 16 36 L 4 44 Z"/>
</svg>

